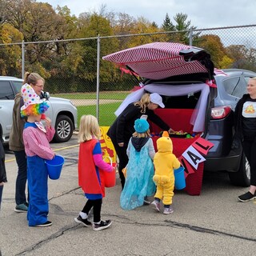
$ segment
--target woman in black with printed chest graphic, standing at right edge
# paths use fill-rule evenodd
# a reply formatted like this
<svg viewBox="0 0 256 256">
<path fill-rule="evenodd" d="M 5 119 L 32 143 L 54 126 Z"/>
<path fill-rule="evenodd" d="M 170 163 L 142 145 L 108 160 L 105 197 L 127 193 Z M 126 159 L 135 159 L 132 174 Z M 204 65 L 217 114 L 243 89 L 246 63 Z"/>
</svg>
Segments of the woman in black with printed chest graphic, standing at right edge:
<svg viewBox="0 0 256 256">
<path fill-rule="evenodd" d="M 250 165 L 250 189 L 238 196 L 241 202 L 256 198 L 256 77 L 250 78 L 248 94 L 238 101 L 234 111 L 235 138 L 242 142 L 242 149 Z"/>
</svg>

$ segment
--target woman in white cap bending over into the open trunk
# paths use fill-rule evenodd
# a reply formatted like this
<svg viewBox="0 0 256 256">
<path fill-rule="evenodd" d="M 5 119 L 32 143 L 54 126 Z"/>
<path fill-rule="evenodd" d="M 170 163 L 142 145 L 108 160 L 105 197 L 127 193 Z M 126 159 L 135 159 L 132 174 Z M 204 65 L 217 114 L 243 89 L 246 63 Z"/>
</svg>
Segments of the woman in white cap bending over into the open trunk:
<svg viewBox="0 0 256 256">
<path fill-rule="evenodd" d="M 154 110 L 161 106 L 164 108 L 162 103 L 162 97 L 159 94 L 143 94 L 142 98 L 138 102 L 130 103 L 126 106 L 126 109 L 118 115 L 118 118 L 114 121 L 113 125 L 110 126 L 107 135 L 111 138 L 114 145 L 114 149 L 118 154 L 119 159 L 119 177 L 121 179 L 122 188 L 125 185 L 125 177 L 122 174 L 122 169 L 126 167 L 128 162 L 128 156 L 126 154 L 128 142 L 130 137 L 134 133 L 134 122 L 136 119 L 141 118 L 142 115 L 154 122 L 162 130 L 172 130 L 163 122 L 158 115 L 154 114 Z"/>
</svg>

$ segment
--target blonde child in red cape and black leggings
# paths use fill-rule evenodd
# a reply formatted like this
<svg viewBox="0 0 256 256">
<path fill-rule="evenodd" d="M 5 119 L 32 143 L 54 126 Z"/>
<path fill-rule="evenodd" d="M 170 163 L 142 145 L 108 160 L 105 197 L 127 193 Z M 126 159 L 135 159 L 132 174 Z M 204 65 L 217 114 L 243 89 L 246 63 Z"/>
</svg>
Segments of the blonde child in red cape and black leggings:
<svg viewBox="0 0 256 256">
<path fill-rule="evenodd" d="M 79 213 L 75 222 L 84 226 L 93 226 L 93 230 L 105 230 L 111 220 L 101 220 L 102 198 L 105 196 L 103 171 L 115 171 L 113 166 L 102 159 L 100 129 L 98 120 L 93 115 L 83 115 L 80 120 L 78 133 L 79 158 L 78 158 L 78 185 L 82 187 L 86 198 L 86 205 Z M 88 214 L 94 208 L 94 223 L 88 221 Z"/>
</svg>

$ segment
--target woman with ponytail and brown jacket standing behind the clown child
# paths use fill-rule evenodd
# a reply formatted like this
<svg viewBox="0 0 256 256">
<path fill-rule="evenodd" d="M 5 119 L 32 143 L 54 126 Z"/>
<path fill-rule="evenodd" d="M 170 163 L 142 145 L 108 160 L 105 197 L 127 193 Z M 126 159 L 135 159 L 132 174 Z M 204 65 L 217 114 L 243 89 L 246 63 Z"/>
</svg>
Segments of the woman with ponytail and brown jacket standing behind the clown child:
<svg viewBox="0 0 256 256">
<path fill-rule="evenodd" d="M 24 84 L 30 85 L 34 92 L 41 97 L 44 79 L 37 73 L 26 72 L 24 74 Z M 26 117 L 21 117 L 21 107 L 24 102 L 22 99 L 22 92 L 18 92 L 14 98 L 13 108 L 13 125 L 10 130 L 9 148 L 14 151 L 15 159 L 18 165 L 18 174 L 15 186 L 15 202 L 14 211 L 18 213 L 27 212 L 29 198 L 26 197 L 26 179 L 27 179 L 27 165 L 26 153 L 23 143 L 23 129 L 26 123 Z"/>
</svg>

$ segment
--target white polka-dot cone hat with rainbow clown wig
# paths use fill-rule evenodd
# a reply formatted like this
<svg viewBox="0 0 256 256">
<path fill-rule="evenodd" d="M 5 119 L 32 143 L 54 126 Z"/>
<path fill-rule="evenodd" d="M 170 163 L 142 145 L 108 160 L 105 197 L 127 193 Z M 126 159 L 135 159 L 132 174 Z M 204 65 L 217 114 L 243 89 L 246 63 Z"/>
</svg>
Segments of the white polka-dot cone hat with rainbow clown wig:
<svg viewBox="0 0 256 256">
<path fill-rule="evenodd" d="M 27 83 L 22 86 L 22 98 L 24 102 L 21 107 L 22 117 L 43 114 L 49 108 L 46 99 L 41 99 Z"/>
</svg>

